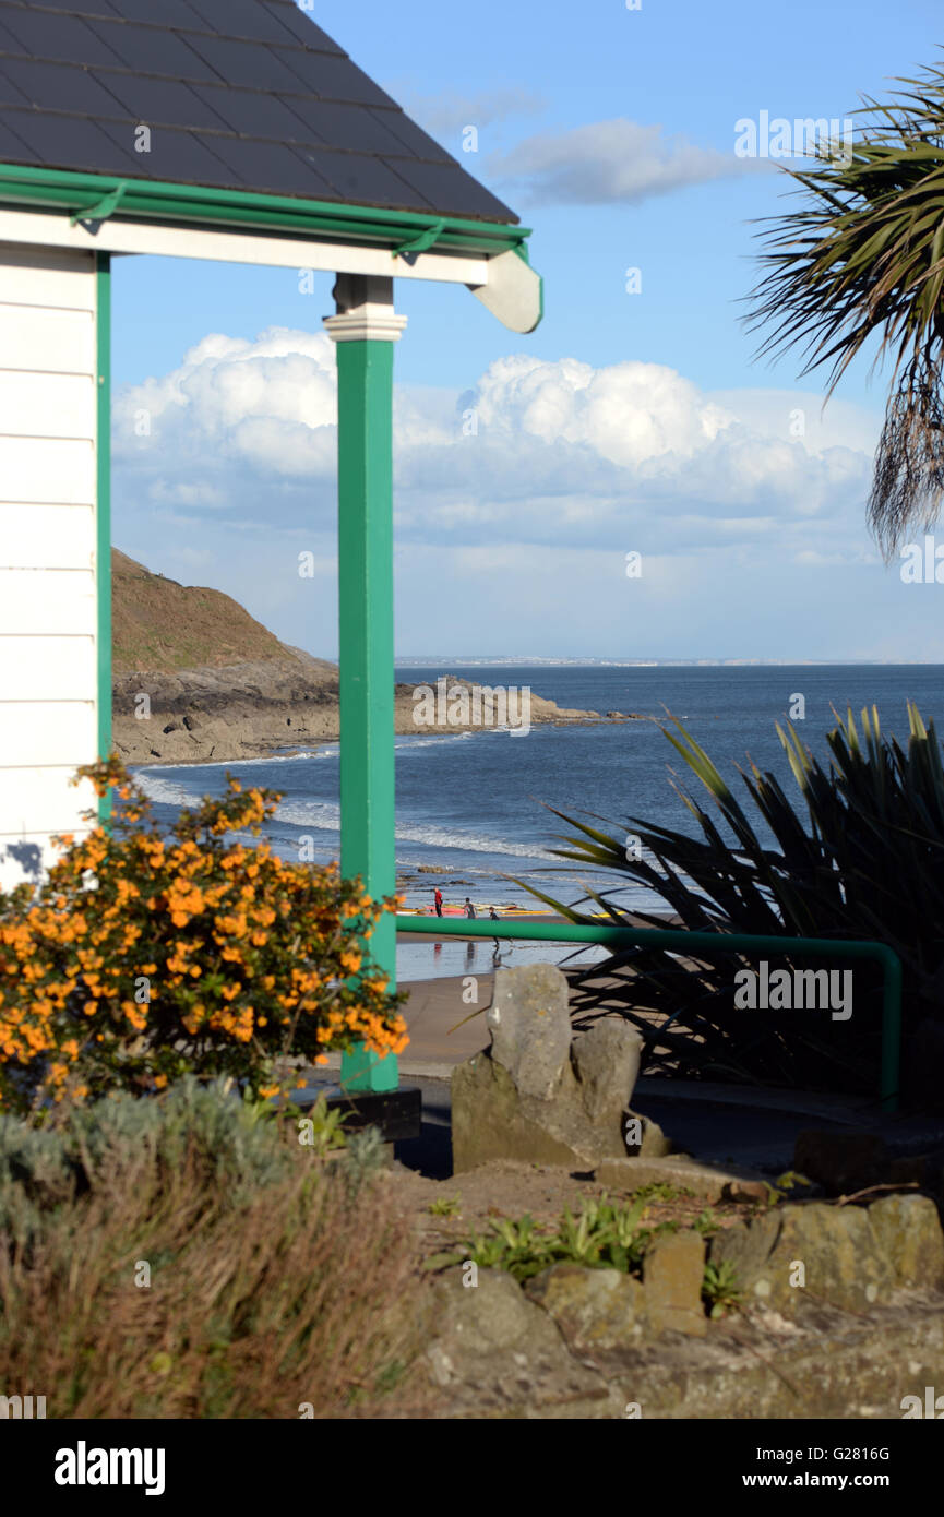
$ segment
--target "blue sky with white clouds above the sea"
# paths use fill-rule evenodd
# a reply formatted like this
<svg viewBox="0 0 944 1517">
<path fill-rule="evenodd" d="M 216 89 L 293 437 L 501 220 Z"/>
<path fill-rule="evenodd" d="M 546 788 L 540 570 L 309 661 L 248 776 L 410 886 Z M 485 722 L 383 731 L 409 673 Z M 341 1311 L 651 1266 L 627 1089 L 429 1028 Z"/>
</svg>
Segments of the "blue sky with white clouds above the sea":
<svg viewBox="0 0 944 1517">
<path fill-rule="evenodd" d="M 865 528 L 886 376 L 857 366 L 821 413 L 823 379 L 798 379 L 795 356 L 753 361 L 751 223 L 788 181 L 735 153 L 736 123 L 762 111 L 842 121 L 886 96 L 938 56 L 939 6 L 313 14 L 534 228 L 545 276 L 530 337 L 461 288 L 396 287 L 398 652 L 944 661 L 944 590 L 903 584 Z M 115 545 L 328 657 L 329 287 L 120 259 L 114 323 Z"/>
</svg>

